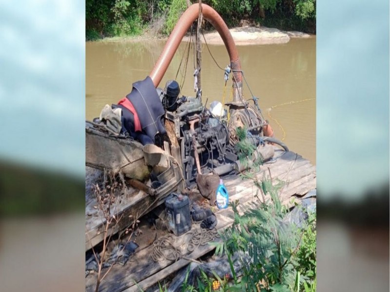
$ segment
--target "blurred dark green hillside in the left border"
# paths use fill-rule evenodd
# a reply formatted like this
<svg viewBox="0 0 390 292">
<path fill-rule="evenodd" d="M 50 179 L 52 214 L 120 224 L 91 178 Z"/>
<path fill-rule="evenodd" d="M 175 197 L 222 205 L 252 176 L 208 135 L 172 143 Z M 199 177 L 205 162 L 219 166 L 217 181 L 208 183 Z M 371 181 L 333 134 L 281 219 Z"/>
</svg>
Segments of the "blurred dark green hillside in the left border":
<svg viewBox="0 0 390 292">
<path fill-rule="evenodd" d="M 85 182 L 53 170 L 0 161 L 0 215 L 58 215 L 85 208 Z"/>
</svg>

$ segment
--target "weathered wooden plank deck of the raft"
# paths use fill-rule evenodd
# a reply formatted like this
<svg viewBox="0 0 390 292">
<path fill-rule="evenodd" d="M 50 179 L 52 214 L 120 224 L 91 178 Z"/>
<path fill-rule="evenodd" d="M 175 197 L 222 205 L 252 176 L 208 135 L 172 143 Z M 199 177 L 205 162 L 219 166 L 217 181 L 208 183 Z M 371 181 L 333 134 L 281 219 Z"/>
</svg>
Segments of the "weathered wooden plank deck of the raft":
<svg viewBox="0 0 390 292">
<path fill-rule="evenodd" d="M 277 183 L 278 180 L 284 182 L 284 186 L 279 192 L 283 204 L 292 206 L 292 198 L 296 198 L 295 201 L 299 202 L 300 197 L 316 188 L 315 166 L 308 160 L 294 152 L 284 152 L 283 150 L 279 150 L 279 148 L 275 149 L 274 158 L 276 159 L 276 162 L 262 165 L 256 176 L 260 181 L 263 177 L 269 178 L 269 173 L 271 172 L 274 184 Z M 257 187 L 254 186 L 252 180 L 242 180 L 238 176 L 234 176 L 225 178 L 224 183 L 228 189 L 229 200 L 240 201 L 238 208 L 240 213 L 243 213 L 247 208 L 256 206 L 256 202 L 258 202 L 258 199 L 255 198 Z M 266 199 L 269 199 L 269 196 L 267 197 Z M 222 230 L 233 223 L 234 213 L 231 207 L 229 207 L 225 210 L 216 211 L 216 217 L 218 219 L 216 229 Z M 191 260 L 195 260 L 214 249 L 213 246 L 207 244 L 200 246 L 192 253 L 188 253 L 187 243 L 183 241 L 185 236 L 186 235 L 184 234 L 177 237 L 177 242 L 182 242 L 181 249 L 184 256 L 182 256 L 181 259 L 176 262 L 169 260 L 154 262 L 150 257 L 153 246 L 146 247 L 137 251 L 125 266 L 113 266 L 110 273 L 107 274 L 100 284 L 99 291 L 135 292 L 140 291 L 140 289 L 145 290 L 180 268 L 188 265 Z M 218 238 L 216 238 L 215 241 L 217 240 Z M 86 291 L 94 291 L 95 285 L 96 275 L 89 275 L 86 278 Z"/>
</svg>

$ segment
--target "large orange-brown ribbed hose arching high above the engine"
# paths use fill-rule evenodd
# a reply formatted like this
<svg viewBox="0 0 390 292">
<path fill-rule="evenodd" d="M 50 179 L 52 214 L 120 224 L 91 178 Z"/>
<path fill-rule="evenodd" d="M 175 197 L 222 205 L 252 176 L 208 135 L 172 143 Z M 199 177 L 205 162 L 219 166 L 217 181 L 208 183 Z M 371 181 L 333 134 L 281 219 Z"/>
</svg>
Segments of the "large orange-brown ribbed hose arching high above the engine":
<svg viewBox="0 0 390 292">
<path fill-rule="evenodd" d="M 238 52 L 234 43 L 234 39 L 228 27 L 226 26 L 226 23 L 219 16 L 219 14 L 209 5 L 201 5 L 203 18 L 209 21 L 215 27 L 219 35 L 222 37 L 222 40 L 228 51 L 230 57 L 230 65 L 231 68 L 234 70 L 234 78 L 239 86 L 238 89 L 234 88 L 234 91 L 241 92 L 242 73 L 237 72 L 241 71 L 241 63 L 238 58 Z M 162 76 L 164 76 L 165 72 L 167 71 L 167 68 L 171 63 L 172 58 L 175 55 L 181 40 L 183 39 L 188 29 L 191 27 L 191 24 L 198 18 L 198 16 L 199 4 L 196 3 L 191 5 L 177 21 L 174 30 L 172 31 L 167 43 L 165 44 L 164 50 L 158 57 L 158 60 L 152 72 L 149 74 L 150 78 L 152 78 L 155 87 L 157 87 L 158 84 L 161 82 Z M 234 96 L 235 95 L 236 94 L 234 94 Z"/>
</svg>

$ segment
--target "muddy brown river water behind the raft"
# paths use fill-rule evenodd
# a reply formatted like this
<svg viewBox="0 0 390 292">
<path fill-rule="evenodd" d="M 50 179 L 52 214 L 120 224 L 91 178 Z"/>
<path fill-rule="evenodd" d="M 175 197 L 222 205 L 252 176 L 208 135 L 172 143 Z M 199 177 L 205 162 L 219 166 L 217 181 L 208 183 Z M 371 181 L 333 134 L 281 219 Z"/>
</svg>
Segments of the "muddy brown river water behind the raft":
<svg viewBox="0 0 390 292">
<path fill-rule="evenodd" d="M 292 38 L 286 44 L 238 46 L 244 76 L 259 97 L 263 115 L 270 121 L 275 137 L 290 150 L 315 164 L 315 37 Z M 143 40 L 86 43 L 86 119 L 99 116 L 105 104 L 117 103 L 152 71 L 165 41 Z M 159 87 L 175 79 L 183 84 L 181 93 L 195 96 L 194 57 L 190 51 L 184 72 L 186 42 L 180 44 Z M 223 45 L 209 45 L 215 61 L 222 68 L 229 62 Z M 184 55 L 181 68 L 178 68 Z M 214 100 L 223 101 L 224 72 L 217 67 L 207 47 L 202 46 L 202 101 L 207 107 Z M 185 79 L 184 77 L 185 76 Z M 225 102 L 231 100 L 231 77 Z M 251 98 L 244 84 L 244 97 Z M 252 102 L 251 102 L 252 104 Z"/>
</svg>

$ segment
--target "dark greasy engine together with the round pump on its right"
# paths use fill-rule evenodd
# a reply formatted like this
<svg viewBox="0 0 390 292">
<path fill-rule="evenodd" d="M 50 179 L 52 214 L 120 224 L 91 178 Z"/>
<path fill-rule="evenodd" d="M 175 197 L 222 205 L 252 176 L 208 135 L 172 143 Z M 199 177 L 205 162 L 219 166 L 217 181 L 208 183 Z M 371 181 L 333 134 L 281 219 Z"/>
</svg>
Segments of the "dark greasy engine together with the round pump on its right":
<svg viewBox="0 0 390 292">
<path fill-rule="evenodd" d="M 165 109 L 165 118 L 174 125 L 174 139 L 180 146 L 183 175 L 191 187 L 197 173 L 215 172 L 224 175 L 234 172 L 237 162 L 235 129 L 247 128 L 254 135 L 253 143 L 260 143 L 264 123 L 248 104 L 232 103 L 228 127 L 227 112 L 219 108 L 207 109 L 195 97 L 179 97 L 176 81 L 168 81 L 164 90 L 157 89 Z M 213 107 L 212 103 L 212 107 Z M 255 138 L 257 137 L 257 138 Z M 171 139 L 172 140 L 172 139 Z"/>
</svg>

